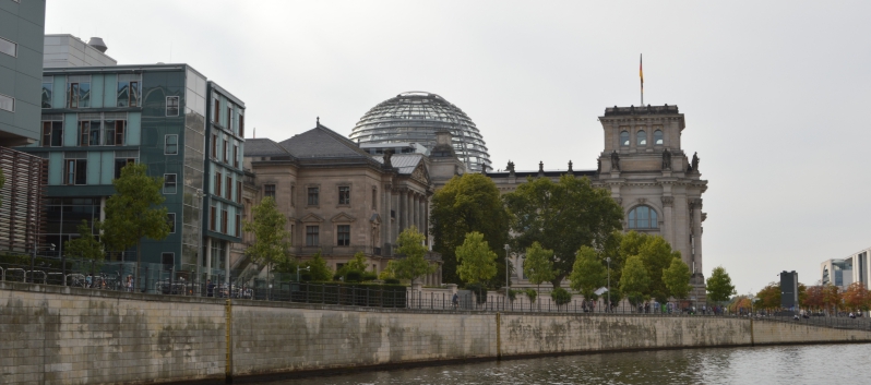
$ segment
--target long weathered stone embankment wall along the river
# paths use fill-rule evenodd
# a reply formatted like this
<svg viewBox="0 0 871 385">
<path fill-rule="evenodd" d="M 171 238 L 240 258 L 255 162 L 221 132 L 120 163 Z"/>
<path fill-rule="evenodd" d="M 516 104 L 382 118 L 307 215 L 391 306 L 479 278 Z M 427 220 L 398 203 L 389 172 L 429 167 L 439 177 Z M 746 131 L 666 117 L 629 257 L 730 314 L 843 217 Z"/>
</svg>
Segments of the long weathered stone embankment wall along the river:
<svg viewBox="0 0 871 385">
<path fill-rule="evenodd" d="M 253 301 L 227 308 L 211 298 L 0 282 L 2 384 L 223 382 L 228 352 L 238 377 L 500 356 L 834 341 L 871 341 L 871 333 L 727 317 Z"/>
</svg>

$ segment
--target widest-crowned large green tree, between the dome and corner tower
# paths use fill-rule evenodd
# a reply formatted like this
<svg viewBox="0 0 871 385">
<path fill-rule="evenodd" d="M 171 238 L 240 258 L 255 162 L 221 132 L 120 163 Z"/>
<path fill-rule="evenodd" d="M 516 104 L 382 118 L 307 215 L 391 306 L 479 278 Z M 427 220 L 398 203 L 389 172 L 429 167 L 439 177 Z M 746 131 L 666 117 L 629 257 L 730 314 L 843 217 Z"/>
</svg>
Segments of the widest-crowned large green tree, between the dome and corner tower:
<svg viewBox="0 0 871 385">
<path fill-rule="evenodd" d="M 572 272 L 582 245 L 599 250 L 613 231 L 622 229 L 623 209 L 610 191 L 594 188 L 586 177 L 562 176 L 556 183 L 529 178 L 503 198 L 517 249 L 539 242 L 553 250 L 554 288 Z"/>
</svg>

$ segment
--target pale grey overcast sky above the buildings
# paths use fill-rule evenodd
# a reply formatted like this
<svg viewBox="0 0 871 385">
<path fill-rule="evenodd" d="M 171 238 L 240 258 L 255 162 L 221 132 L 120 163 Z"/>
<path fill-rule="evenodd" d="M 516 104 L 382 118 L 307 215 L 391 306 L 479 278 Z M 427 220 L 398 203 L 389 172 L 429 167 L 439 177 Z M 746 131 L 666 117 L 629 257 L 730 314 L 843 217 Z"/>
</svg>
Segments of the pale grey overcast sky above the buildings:
<svg viewBox="0 0 871 385">
<path fill-rule="evenodd" d="M 739 293 L 871 246 L 871 2 L 68 1 L 46 33 L 103 37 L 120 64 L 189 63 L 246 101 L 259 137 L 315 117 L 349 134 L 377 104 L 436 93 L 494 168 L 594 169 L 606 106 L 685 113 L 705 275 Z M 248 130 L 249 135 L 251 130 Z"/>
</svg>

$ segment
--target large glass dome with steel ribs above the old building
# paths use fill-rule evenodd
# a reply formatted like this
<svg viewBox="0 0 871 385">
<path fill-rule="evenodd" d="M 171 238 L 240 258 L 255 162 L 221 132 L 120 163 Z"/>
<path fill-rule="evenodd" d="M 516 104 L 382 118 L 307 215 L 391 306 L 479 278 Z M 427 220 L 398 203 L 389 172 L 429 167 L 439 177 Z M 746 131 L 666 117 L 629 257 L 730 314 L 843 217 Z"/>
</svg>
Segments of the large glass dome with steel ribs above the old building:
<svg viewBox="0 0 871 385">
<path fill-rule="evenodd" d="M 472 172 L 490 167 L 490 154 L 478 128 L 463 110 L 443 97 L 426 92 L 408 92 L 380 103 L 366 112 L 350 139 L 360 144 L 416 143 L 426 153 L 436 146 L 436 131 L 448 129 L 454 152 Z"/>
</svg>

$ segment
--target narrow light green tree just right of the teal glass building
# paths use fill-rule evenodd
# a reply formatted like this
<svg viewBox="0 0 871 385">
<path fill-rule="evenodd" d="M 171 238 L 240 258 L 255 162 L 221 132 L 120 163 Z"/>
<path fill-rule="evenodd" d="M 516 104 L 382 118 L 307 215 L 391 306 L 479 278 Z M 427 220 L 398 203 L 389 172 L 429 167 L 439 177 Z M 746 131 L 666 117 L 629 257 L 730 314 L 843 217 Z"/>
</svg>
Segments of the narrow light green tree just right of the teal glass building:
<svg viewBox="0 0 871 385">
<path fill-rule="evenodd" d="M 285 230 L 287 218 L 278 210 L 275 200 L 266 196 L 251 209 L 252 221 L 243 221 L 243 229 L 254 236 L 254 242 L 246 250 L 246 254 L 258 265 L 266 266 L 266 275 L 272 268 L 287 260 L 290 242 Z"/>
</svg>

